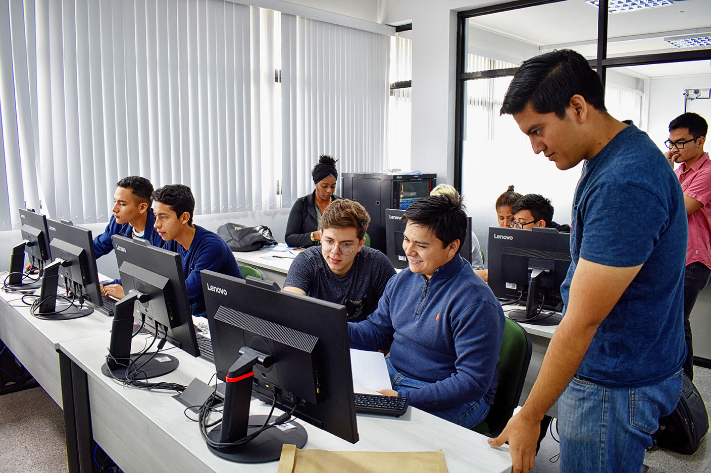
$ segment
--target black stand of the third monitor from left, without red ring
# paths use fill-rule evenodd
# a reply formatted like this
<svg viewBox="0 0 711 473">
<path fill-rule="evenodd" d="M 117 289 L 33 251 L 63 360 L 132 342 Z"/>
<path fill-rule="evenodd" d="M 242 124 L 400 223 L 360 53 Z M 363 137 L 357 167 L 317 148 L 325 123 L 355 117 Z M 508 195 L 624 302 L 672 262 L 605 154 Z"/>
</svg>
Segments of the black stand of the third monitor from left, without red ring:
<svg viewBox="0 0 711 473">
<path fill-rule="evenodd" d="M 149 300 L 149 296 L 132 289 L 122 300 L 116 303 L 114 322 L 111 327 L 109 354 L 106 357 L 106 363 L 101 367 L 101 372 L 105 376 L 109 376 L 109 378 L 124 380 L 136 373 L 133 377 L 139 381 L 164 376 L 178 368 L 178 359 L 169 354 L 159 353 L 155 357 L 153 357 L 153 354 L 141 356 L 131 354 L 134 303 L 137 300 L 141 303 L 146 303 Z M 156 332 L 157 330 L 158 327 L 156 326 Z M 151 357 L 153 358 L 151 359 Z M 139 366 L 141 369 L 137 372 Z"/>
</svg>

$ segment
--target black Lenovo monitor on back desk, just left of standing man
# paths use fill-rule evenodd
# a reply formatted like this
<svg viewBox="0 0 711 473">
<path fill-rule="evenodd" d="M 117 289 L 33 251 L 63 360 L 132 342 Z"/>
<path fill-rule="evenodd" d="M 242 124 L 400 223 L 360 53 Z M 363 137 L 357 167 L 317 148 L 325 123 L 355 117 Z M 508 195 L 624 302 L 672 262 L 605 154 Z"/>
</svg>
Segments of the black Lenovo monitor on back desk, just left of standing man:
<svg viewBox="0 0 711 473">
<path fill-rule="evenodd" d="M 560 285 L 570 266 L 570 233 L 490 227 L 488 286 L 498 298 L 525 303 L 508 317 L 536 325 L 557 325 L 562 309 Z"/>
</svg>

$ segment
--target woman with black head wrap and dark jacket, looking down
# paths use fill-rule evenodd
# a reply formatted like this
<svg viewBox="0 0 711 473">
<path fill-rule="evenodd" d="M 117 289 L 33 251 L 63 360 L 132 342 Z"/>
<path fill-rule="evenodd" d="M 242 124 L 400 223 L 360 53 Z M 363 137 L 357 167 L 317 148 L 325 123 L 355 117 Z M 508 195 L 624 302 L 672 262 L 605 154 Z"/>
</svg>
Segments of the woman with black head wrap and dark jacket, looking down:
<svg viewBox="0 0 711 473">
<path fill-rule="evenodd" d="M 320 156 L 319 163 L 311 170 L 316 190 L 299 197 L 289 212 L 287 234 L 284 239 L 289 246 L 314 246 L 321 242 L 321 215 L 328 204 L 340 199 L 336 192 L 338 171 L 336 161 L 331 156 Z"/>
</svg>

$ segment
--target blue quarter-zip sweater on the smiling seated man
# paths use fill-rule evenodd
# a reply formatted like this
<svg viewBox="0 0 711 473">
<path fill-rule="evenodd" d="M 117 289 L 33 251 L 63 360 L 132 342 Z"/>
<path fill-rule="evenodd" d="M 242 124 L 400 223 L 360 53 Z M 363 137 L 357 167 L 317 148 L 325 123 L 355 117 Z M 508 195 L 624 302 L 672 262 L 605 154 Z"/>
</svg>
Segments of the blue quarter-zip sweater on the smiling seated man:
<svg viewBox="0 0 711 473">
<path fill-rule="evenodd" d="M 429 281 L 405 269 L 385 287 L 378 309 L 348 322 L 351 347 L 390 348 L 397 371 L 428 383 L 412 390 L 423 411 L 461 406 L 496 393 L 503 310 L 491 289 L 459 255 Z"/>
</svg>

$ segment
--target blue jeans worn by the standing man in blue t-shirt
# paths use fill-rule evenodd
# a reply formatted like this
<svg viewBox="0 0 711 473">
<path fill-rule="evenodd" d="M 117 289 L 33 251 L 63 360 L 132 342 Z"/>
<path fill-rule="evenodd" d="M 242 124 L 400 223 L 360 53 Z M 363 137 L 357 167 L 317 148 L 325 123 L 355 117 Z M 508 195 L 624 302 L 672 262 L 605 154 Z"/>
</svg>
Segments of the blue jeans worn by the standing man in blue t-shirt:
<svg viewBox="0 0 711 473">
<path fill-rule="evenodd" d="M 574 377 L 558 400 L 562 473 L 639 473 L 659 418 L 674 410 L 681 371 L 661 383 L 610 388 Z"/>
</svg>

